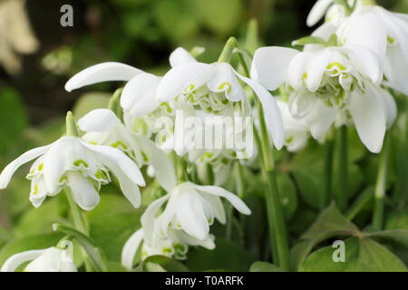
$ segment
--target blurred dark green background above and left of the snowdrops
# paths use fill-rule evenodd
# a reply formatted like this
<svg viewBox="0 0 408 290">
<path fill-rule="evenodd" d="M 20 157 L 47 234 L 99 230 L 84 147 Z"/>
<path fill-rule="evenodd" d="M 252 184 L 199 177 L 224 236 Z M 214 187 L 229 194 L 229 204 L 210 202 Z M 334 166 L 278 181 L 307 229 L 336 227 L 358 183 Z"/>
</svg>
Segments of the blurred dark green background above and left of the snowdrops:
<svg viewBox="0 0 408 290">
<path fill-rule="evenodd" d="M 106 102 L 118 83 L 65 92 L 64 83 L 80 70 L 107 61 L 164 73 L 178 46 L 203 46 L 200 60 L 217 60 L 229 36 L 243 41 L 248 20 L 256 18 L 263 44 L 289 45 L 310 34 L 306 15 L 314 0 L 0 0 L 0 169 L 34 146 L 63 133 L 65 111 L 79 117 Z M 408 0 L 378 1 L 408 12 Z M 73 6 L 73 27 L 60 25 L 60 7 Z M 36 39 L 36 41 L 35 41 Z M 38 45 L 37 45 L 38 44 Z M 102 93 L 106 92 L 106 93 Z M 29 182 L 20 170 L 0 195 L 0 246 L 27 208 Z M 52 206 L 49 206 L 52 207 Z M 50 218 L 64 208 L 47 211 Z M 34 212 L 34 211 L 33 211 Z M 30 214 L 31 215 L 31 214 Z M 33 213 L 34 215 L 34 213 Z M 26 217 L 27 222 L 34 217 Z M 24 224 L 24 220 L 19 223 Z M 27 229 L 40 232 L 32 223 Z"/>
</svg>

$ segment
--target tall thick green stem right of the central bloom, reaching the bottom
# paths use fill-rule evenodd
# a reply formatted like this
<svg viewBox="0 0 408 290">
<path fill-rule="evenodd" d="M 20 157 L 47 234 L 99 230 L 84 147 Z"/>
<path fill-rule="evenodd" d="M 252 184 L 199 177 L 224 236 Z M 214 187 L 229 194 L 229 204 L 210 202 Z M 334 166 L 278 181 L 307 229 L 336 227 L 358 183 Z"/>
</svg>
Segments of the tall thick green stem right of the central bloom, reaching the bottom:
<svg viewBox="0 0 408 290">
<path fill-rule="evenodd" d="M 272 98 L 272 96 L 271 96 Z M 257 100 L 257 98 L 256 98 Z M 271 235 L 272 251 L 276 247 L 274 262 L 284 270 L 289 270 L 289 246 L 287 242 L 287 227 L 285 217 L 280 203 L 277 189 L 277 171 L 273 159 L 272 144 L 270 142 L 264 112 L 260 102 L 257 100 L 259 115 L 259 131 L 256 137 L 259 151 L 262 152 L 262 171 L 267 182 L 267 220 L 269 223 L 269 234 Z"/>
</svg>

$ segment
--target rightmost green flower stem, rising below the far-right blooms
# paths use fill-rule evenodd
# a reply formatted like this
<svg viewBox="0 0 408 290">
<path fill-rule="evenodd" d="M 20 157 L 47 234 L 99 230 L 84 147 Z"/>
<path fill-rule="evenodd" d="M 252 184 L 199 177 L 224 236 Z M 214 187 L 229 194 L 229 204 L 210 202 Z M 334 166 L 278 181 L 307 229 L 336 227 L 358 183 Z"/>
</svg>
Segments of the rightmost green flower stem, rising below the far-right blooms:
<svg viewBox="0 0 408 290">
<path fill-rule="evenodd" d="M 376 230 L 381 230 L 384 226 L 384 198 L 387 184 L 390 141 L 391 136 L 389 134 L 385 135 L 384 148 L 380 155 L 380 163 L 378 164 L 378 174 L 374 189 L 373 227 Z"/>
</svg>

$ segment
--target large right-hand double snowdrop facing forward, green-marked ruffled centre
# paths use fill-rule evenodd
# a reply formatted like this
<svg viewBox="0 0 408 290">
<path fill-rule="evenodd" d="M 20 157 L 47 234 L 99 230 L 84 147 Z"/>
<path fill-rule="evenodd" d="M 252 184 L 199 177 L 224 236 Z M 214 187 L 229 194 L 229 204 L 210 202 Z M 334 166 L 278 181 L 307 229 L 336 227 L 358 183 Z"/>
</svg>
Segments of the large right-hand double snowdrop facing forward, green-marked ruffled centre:
<svg viewBox="0 0 408 290">
<path fill-rule="evenodd" d="M 306 122 L 316 140 L 346 112 L 365 147 L 379 152 L 396 117 L 393 98 L 378 85 L 383 78 L 378 56 L 362 45 L 312 52 L 263 47 L 254 55 L 251 75 L 271 91 L 285 84 L 290 113 Z"/>
</svg>

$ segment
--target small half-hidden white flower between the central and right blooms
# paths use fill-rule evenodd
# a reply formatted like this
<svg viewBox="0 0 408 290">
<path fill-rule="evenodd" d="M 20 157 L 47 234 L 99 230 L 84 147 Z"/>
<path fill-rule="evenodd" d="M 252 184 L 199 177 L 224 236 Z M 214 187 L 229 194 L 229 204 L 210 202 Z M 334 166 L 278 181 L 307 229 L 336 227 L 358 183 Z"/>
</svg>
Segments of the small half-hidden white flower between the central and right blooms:
<svg viewBox="0 0 408 290">
<path fill-rule="evenodd" d="M 303 120 L 295 119 L 289 111 L 287 102 L 277 100 L 282 112 L 285 130 L 285 146 L 290 152 L 297 152 L 305 148 L 309 139 L 309 128 Z"/>
</svg>

